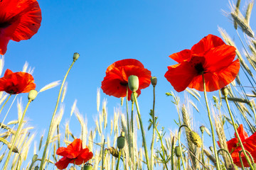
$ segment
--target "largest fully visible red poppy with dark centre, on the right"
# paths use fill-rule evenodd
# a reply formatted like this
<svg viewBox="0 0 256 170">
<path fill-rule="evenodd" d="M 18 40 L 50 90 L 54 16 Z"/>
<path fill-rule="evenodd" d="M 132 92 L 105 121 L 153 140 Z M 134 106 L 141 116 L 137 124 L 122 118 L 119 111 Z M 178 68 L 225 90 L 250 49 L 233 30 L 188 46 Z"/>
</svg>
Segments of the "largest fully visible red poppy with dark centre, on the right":
<svg viewBox="0 0 256 170">
<path fill-rule="evenodd" d="M 235 58 L 235 47 L 215 35 L 207 35 L 191 50 L 170 55 L 178 64 L 169 66 L 164 75 L 178 92 L 187 87 L 203 91 L 203 78 L 206 91 L 215 91 L 230 84 L 237 76 L 240 63 Z"/>
</svg>

